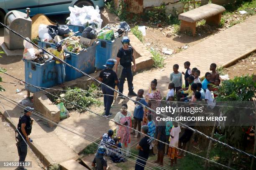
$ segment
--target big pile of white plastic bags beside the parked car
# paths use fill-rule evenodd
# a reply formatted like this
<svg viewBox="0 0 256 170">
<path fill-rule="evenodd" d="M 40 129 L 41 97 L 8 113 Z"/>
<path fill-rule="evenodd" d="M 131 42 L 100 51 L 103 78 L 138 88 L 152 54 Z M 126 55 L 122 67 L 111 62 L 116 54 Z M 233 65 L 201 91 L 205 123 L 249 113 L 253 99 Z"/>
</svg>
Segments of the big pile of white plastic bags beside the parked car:
<svg viewBox="0 0 256 170">
<path fill-rule="evenodd" d="M 103 20 L 100 18 L 98 6 L 94 9 L 92 6 L 77 7 L 74 5 L 74 7 L 69 7 L 69 11 L 68 24 L 88 26 L 90 22 L 96 21 L 98 23 L 96 30 L 100 30 Z"/>
</svg>

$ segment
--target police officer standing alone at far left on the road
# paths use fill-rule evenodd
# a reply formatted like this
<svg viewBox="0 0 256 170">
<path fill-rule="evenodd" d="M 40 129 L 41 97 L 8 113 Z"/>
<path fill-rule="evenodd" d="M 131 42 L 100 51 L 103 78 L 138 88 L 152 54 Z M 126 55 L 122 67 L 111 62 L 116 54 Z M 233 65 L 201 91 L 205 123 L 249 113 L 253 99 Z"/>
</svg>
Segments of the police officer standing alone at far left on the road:
<svg viewBox="0 0 256 170">
<path fill-rule="evenodd" d="M 19 162 L 24 162 L 26 159 L 28 147 L 27 144 L 30 141 L 30 138 L 28 135 L 30 135 L 31 130 L 32 130 L 32 124 L 33 124 L 33 119 L 30 117 L 33 108 L 31 107 L 26 107 L 24 109 L 24 115 L 20 116 L 19 118 L 19 123 L 18 123 L 18 143 L 17 143 L 17 148 L 18 148 L 18 154 L 19 154 Z M 20 136 L 22 135 L 22 137 Z M 26 140 L 26 142 L 24 140 Z M 26 170 L 26 168 L 23 168 L 23 166 L 18 167 L 18 170 Z"/>
</svg>

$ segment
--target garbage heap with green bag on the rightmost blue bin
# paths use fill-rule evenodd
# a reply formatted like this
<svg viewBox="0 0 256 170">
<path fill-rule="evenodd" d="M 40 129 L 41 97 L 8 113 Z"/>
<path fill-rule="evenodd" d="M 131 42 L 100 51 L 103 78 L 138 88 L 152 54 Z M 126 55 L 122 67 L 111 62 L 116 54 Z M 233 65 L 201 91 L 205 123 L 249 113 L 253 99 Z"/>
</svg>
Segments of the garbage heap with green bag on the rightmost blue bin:
<svg viewBox="0 0 256 170">
<path fill-rule="evenodd" d="M 98 39 L 115 40 L 115 38 L 123 36 L 125 32 L 130 30 L 130 26 L 124 21 L 120 25 L 108 24 L 98 33 Z"/>
</svg>

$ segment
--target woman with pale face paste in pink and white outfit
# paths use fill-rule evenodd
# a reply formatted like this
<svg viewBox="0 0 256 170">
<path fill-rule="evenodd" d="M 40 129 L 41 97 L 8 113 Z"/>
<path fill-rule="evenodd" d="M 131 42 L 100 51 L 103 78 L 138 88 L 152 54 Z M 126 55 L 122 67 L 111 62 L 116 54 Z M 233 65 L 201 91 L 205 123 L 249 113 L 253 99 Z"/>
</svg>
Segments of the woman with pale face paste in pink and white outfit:
<svg viewBox="0 0 256 170">
<path fill-rule="evenodd" d="M 115 124 L 117 125 L 116 128 L 116 136 L 120 137 L 120 143 L 123 149 L 123 155 L 130 157 L 130 150 L 131 150 L 131 112 L 127 111 L 128 106 L 126 104 L 122 105 L 122 109 L 115 115 Z M 130 127 L 130 128 L 128 128 Z"/>
</svg>

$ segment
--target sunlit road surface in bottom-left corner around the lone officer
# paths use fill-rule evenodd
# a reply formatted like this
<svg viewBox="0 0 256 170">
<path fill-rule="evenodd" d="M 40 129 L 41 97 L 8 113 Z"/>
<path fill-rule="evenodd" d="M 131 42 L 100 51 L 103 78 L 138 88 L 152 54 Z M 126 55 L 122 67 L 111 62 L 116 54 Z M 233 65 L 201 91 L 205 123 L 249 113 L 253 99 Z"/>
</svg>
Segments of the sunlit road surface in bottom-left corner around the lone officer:
<svg viewBox="0 0 256 170">
<path fill-rule="evenodd" d="M 0 117 L 0 160 L 1 161 L 18 161 L 18 151 L 15 141 L 14 129 L 8 125 L 3 117 Z M 29 150 L 29 149 L 28 149 Z M 36 158 L 33 156 L 31 151 L 28 151 L 26 161 L 32 161 L 32 168 L 28 170 L 41 170 L 38 166 Z M 39 161 L 40 163 L 40 161 Z M 1 170 L 10 170 L 15 168 L 0 168 Z"/>
</svg>

